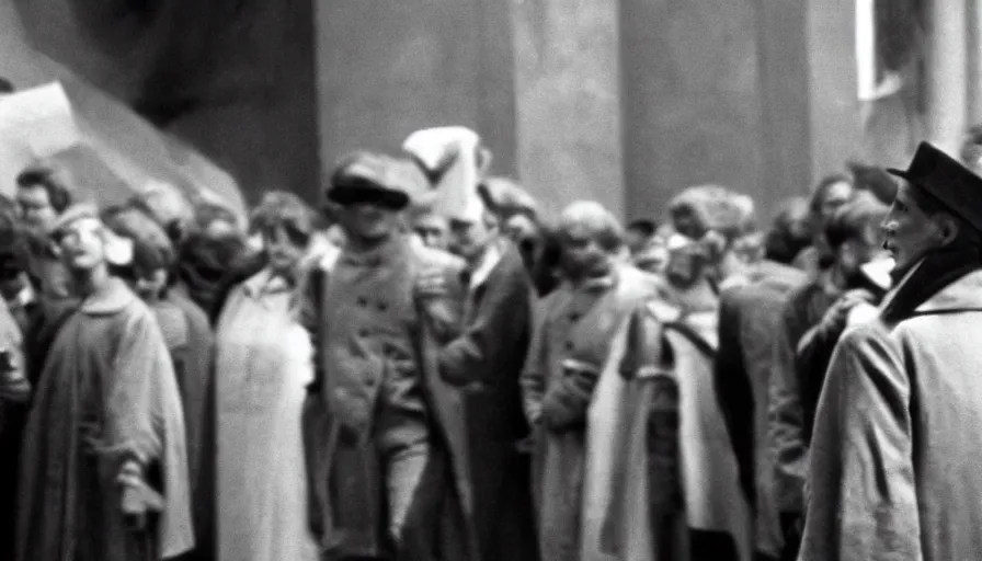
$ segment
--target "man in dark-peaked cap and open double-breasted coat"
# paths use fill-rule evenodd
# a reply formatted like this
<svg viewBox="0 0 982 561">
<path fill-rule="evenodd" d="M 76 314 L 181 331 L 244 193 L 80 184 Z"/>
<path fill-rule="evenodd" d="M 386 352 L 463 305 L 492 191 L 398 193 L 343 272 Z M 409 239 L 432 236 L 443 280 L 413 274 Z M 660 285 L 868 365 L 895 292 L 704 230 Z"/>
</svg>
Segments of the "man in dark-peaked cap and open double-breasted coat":
<svg viewBox="0 0 982 561">
<path fill-rule="evenodd" d="M 330 183 L 346 243 L 301 304 L 312 529 L 331 560 L 475 559 L 461 398 L 438 374 L 459 333 L 460 270 L 403 231 L 410 197 L 391 158 L 353 154 Z"/>
</svg>

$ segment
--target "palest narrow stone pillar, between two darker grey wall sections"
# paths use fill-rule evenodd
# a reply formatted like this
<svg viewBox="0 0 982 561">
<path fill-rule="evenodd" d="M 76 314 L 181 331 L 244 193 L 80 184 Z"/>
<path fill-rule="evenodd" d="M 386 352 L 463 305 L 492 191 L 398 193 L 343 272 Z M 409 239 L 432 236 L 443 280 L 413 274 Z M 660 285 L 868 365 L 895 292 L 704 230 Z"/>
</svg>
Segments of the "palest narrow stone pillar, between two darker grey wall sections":
<svg viewBox="0 0 982 561">
<path fill-rule="evenodd" d="M 624 214 L 618 2 L 514 1 L 518 169 L 547 211 Z"/>
</svg>

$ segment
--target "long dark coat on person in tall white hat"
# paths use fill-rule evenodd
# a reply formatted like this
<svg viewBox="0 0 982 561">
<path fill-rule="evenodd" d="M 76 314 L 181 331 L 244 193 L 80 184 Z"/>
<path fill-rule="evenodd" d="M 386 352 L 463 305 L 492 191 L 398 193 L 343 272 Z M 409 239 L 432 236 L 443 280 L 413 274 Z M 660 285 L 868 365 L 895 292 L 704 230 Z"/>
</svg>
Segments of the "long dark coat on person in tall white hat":
<svg viewBox="0 0 982 561">
<path fill-rule="evenodd" d="M 464 389 L 475 524 L 481 559 L 538 559 L 528 436 L 518 377 L 532 337 L 533 286 L 518 251 L 502 240 L 496 263 L 471 278 L 464 332 L 439 352 L 444 379 Z M 479 268 L 480 271 L 480 268 Z"/>
</svg>

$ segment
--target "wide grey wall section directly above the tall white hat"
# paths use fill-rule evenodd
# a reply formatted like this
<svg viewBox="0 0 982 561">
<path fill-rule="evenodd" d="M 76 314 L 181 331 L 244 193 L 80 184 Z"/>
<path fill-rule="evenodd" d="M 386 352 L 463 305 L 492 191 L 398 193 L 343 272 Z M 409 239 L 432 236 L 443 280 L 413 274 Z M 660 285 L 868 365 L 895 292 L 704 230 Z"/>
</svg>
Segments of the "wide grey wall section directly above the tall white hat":
<svg viewBox="0 0 982 561">
<path fill-rule="evenodd" d="M 504 3 L 504 2 L 499 2 Z M 420 128 L 473 128 L 514 171 L 510 18 L 481 0 L 316 2 L 320 156 L 398 152 Z"/>
</svg>

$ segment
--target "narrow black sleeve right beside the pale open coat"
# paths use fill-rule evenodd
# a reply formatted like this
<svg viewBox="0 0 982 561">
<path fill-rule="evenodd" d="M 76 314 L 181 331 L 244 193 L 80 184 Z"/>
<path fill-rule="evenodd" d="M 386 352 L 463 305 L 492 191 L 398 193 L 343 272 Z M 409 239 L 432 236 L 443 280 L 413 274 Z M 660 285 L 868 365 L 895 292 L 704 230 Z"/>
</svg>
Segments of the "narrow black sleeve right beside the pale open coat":
<svg viewBox="0 0 982 561">
<path fill-rule="evenodd" d="M 740 344 L 740 308 L 733 290 L 724 294 L 719 310 L 719 348 L 713 383 L 723 423 L 740 470 L 740 485 L 751 504 L 756 502 L 754 480 L 754 393 Z"/>
</svg>

